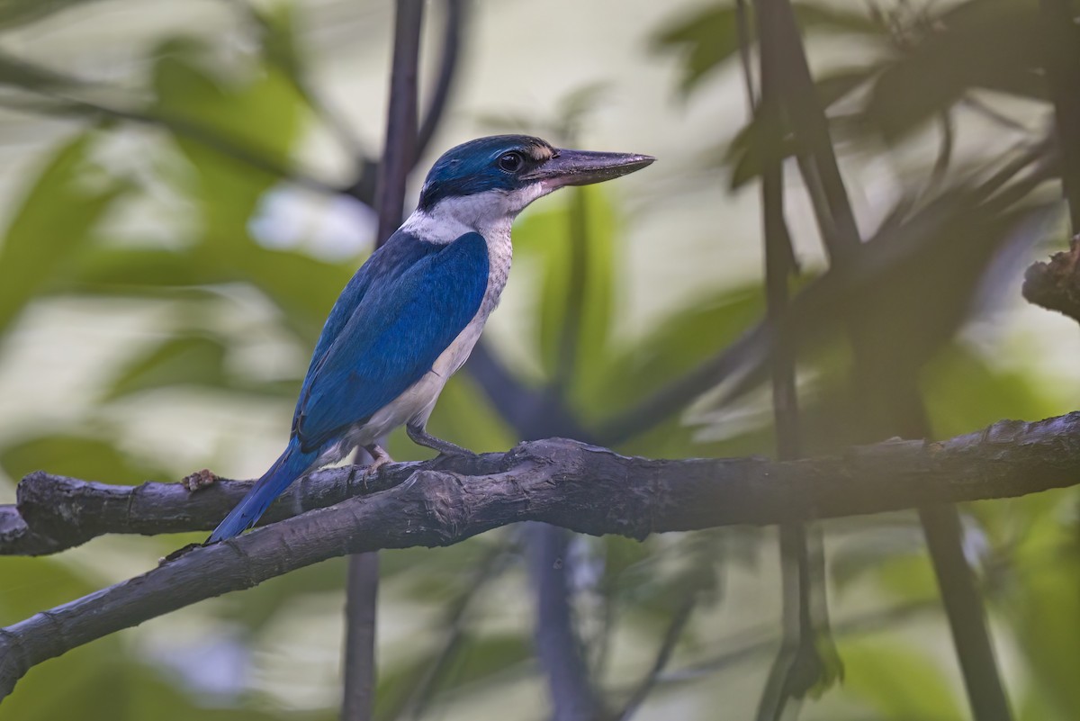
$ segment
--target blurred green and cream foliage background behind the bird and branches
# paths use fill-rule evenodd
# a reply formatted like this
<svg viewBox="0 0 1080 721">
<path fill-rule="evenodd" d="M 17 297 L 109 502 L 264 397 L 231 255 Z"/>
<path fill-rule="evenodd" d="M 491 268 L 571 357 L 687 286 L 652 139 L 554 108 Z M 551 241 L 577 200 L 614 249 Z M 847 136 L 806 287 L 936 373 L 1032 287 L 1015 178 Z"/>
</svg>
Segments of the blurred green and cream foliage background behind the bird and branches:
<svg viewBox="0 0 1080 721">
<path fill-rule="evenodd" d="M 448 384 L 434 433 L 475 450 L 555 428 L 657 457 L 773 452 L 768 348 L 735 341 L 764 314 L 754 189 L 778 157 L 804 271 L 782 330 L 801 342 L 808 452 L 893 435 L 867 389 L 918 393 L 936 437 L 1077 407 L 1075 324 L 1018 297 L 1026 263 L 1067 236 L 1035 2 L 796 5 L 868 239 L 832 269 L 794 172 L 806 149 L 750 120 L 751 10 L 626 4 L 471 8 L 419 167 L 515 131 L 661 162 L 523 215 L 484 358 Z M 430 50 L 445 6 L 429 13 Z M 370 250 L 391 17 L 367 0 L 0 3 L 0 500 L 37 468 L 134 484 L 272 460 L 323 318 Z M 854 386 L 839 332 L 853 323 L 874 349 Z M 674 412 L 642 405 L 717 356 L 745 371 L 738 392 L 715 375 Z M 1068 489 L 963 508 L 1023 721 L 1080 718 L 1078 507 Z M 801 718 L 968 718 L 914 514 L 825 533 L 846 672 Z M 201 538 L 0 558 L 0 623 Z M 546 718 L 524 546 L 510 528 L 382 555 L 377 718 Z M 773 529 L 569 540 L 604 704 L 648 679 L 635 718 L 751 718 L 779 643 L 774 546 Z M 337 718 L 343 576 L 328 561 L 81 648 L 35 668 L 0 717 Z"/>
</svg>

